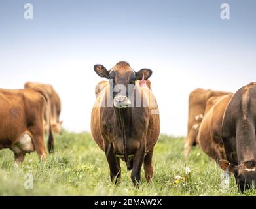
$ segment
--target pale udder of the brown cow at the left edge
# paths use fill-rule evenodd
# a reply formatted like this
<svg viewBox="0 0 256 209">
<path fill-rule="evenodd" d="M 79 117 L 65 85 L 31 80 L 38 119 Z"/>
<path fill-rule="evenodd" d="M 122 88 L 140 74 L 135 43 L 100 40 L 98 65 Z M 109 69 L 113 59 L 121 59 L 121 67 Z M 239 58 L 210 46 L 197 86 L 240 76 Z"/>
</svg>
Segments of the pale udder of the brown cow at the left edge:
<svg viewBox="0 0 256 209">
<path fill-rule="evenodd" d="M 12 151 L 16 154 L 22 153 L 22 152 L 33 152 L 35 150 L 35 147 L 33 146 L 32 138 L 30 135 L 25 133 L 22 135 L 18 141 L 12 145 Z"/>
</svg>

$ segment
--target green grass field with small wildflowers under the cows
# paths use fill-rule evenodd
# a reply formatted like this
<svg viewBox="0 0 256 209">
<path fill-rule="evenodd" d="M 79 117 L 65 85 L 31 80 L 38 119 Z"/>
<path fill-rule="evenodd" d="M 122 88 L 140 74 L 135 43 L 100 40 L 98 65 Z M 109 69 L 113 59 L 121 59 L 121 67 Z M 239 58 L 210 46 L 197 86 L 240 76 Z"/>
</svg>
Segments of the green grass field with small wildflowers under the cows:
<svg viewBox="0 0 256 209">
<path fill-rule="evenodd" d="M 161 135 L 155 146 L 155 172 L 150 184 L 132 185 L 122 162 L 122 180 L 111 184 L 105 154 L 90 133 L 56 136 L 56 152 L 41 163 L 35 152 L 15 165 L 10 150 L 0 150 L 0 195 L 240 195 L 234 177 L 229 189 L 221 189 L 222 171 L 198 148 L 183 158 L 184 138 Z M 185 174 L 185 167 L 191 172 Z M 26 174 L 33 176 L 33 189 L 25 189 Z M 181 176 L 175 182 L 175 176 Z M 246 191 L 244 195 L 256 195 Z"/>
</svg>

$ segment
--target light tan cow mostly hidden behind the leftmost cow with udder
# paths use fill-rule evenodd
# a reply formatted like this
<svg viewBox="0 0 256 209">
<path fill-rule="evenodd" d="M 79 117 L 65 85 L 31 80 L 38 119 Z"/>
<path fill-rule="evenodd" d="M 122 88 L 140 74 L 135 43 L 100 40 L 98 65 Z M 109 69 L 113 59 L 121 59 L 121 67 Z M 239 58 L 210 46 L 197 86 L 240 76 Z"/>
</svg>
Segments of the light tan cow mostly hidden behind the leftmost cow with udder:
<svg viewBox="0 0 256 209">
<path fill-rule="evenodd" d="M 62 108 L 62 103 L 60 101 L 60 97 L 58 93 L 54 90 L 52 85 L 50 84 L 41 84 L 35 82 L 26 82 L 24 84 L 24 88 L 30 89 L 43 89 L 50 98 L 48 102 L 48 106 L 46 106 L 45 115 L 44 115 L 44 123 L 45 123 L 45 131 L 48 130 L 49 120 L 52 124 L 52 131 L 54 133 L 61 133 L 62 132 L 62 121 L 60 121 L 60 112 Z M 50 111 L 50 118 L 48 118 L 49 114 L 47 111 Z"/>
</svg>

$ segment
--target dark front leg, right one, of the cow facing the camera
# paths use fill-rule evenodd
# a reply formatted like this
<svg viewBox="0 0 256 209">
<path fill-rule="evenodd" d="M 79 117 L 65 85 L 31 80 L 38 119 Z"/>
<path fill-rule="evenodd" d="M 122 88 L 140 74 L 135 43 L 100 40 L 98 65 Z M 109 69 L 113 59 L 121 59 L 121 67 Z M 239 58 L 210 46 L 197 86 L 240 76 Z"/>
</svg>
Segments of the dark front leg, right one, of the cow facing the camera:
<svg viewBox="0 0 256 209">
<path fill-rule="evenodd" d="M 132 182 L 136 187 L 139 187 L 141 183 L 141 167 L 144 160 L 146 145 L 145 141 L 140 142 L 139 149 L 137 149 L 134 155 L 134 167 L 132 168 Z"/>
</svg>

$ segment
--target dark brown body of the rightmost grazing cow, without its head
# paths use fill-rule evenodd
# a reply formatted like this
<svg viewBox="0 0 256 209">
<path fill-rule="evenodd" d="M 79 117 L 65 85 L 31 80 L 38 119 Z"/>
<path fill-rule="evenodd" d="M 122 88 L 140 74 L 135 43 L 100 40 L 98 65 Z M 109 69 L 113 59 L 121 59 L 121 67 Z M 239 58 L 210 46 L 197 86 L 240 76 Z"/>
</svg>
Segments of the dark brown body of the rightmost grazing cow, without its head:
<svg viewBox="0 0 256 209">
<path fill-rule="evenodd" d="M 240 88 L 223 118 L 222 138 L 230 163 L 256 158 L 256 82 Z"/>
</svg>

